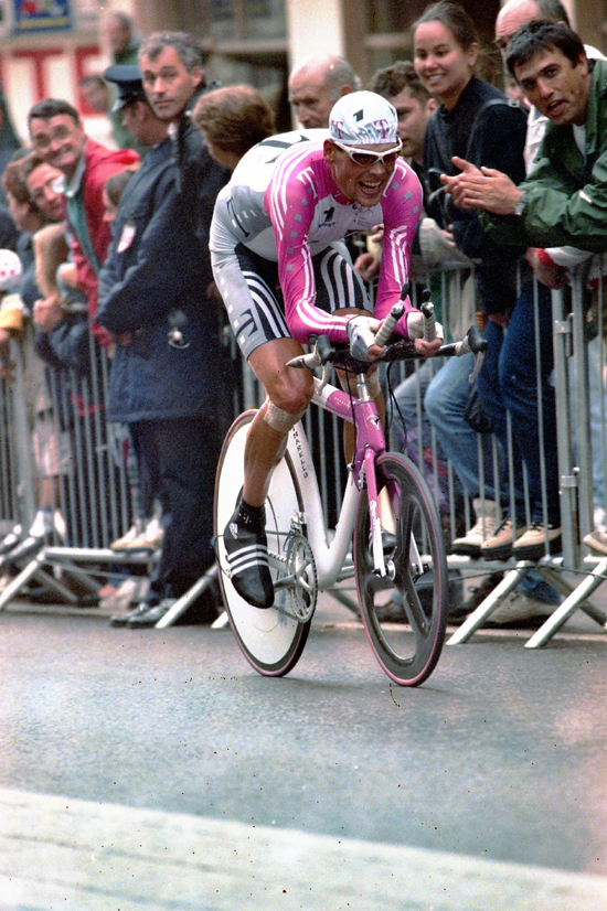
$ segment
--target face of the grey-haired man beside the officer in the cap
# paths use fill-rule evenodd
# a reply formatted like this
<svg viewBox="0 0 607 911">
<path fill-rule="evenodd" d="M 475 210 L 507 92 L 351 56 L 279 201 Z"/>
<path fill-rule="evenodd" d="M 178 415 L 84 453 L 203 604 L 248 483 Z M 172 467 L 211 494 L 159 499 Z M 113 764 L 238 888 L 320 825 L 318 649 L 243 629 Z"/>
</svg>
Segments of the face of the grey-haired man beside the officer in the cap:
<svg viewBox="0 0 607 911">
<path fill-rule="evenodd" d="M 143 55 L 141 78 L 148 100 L 160 120 L 178 120 L 202 82 L 200 66 L 187 69 L 174 47 L 164 47 L 152 61 Z"/>
</svg>

